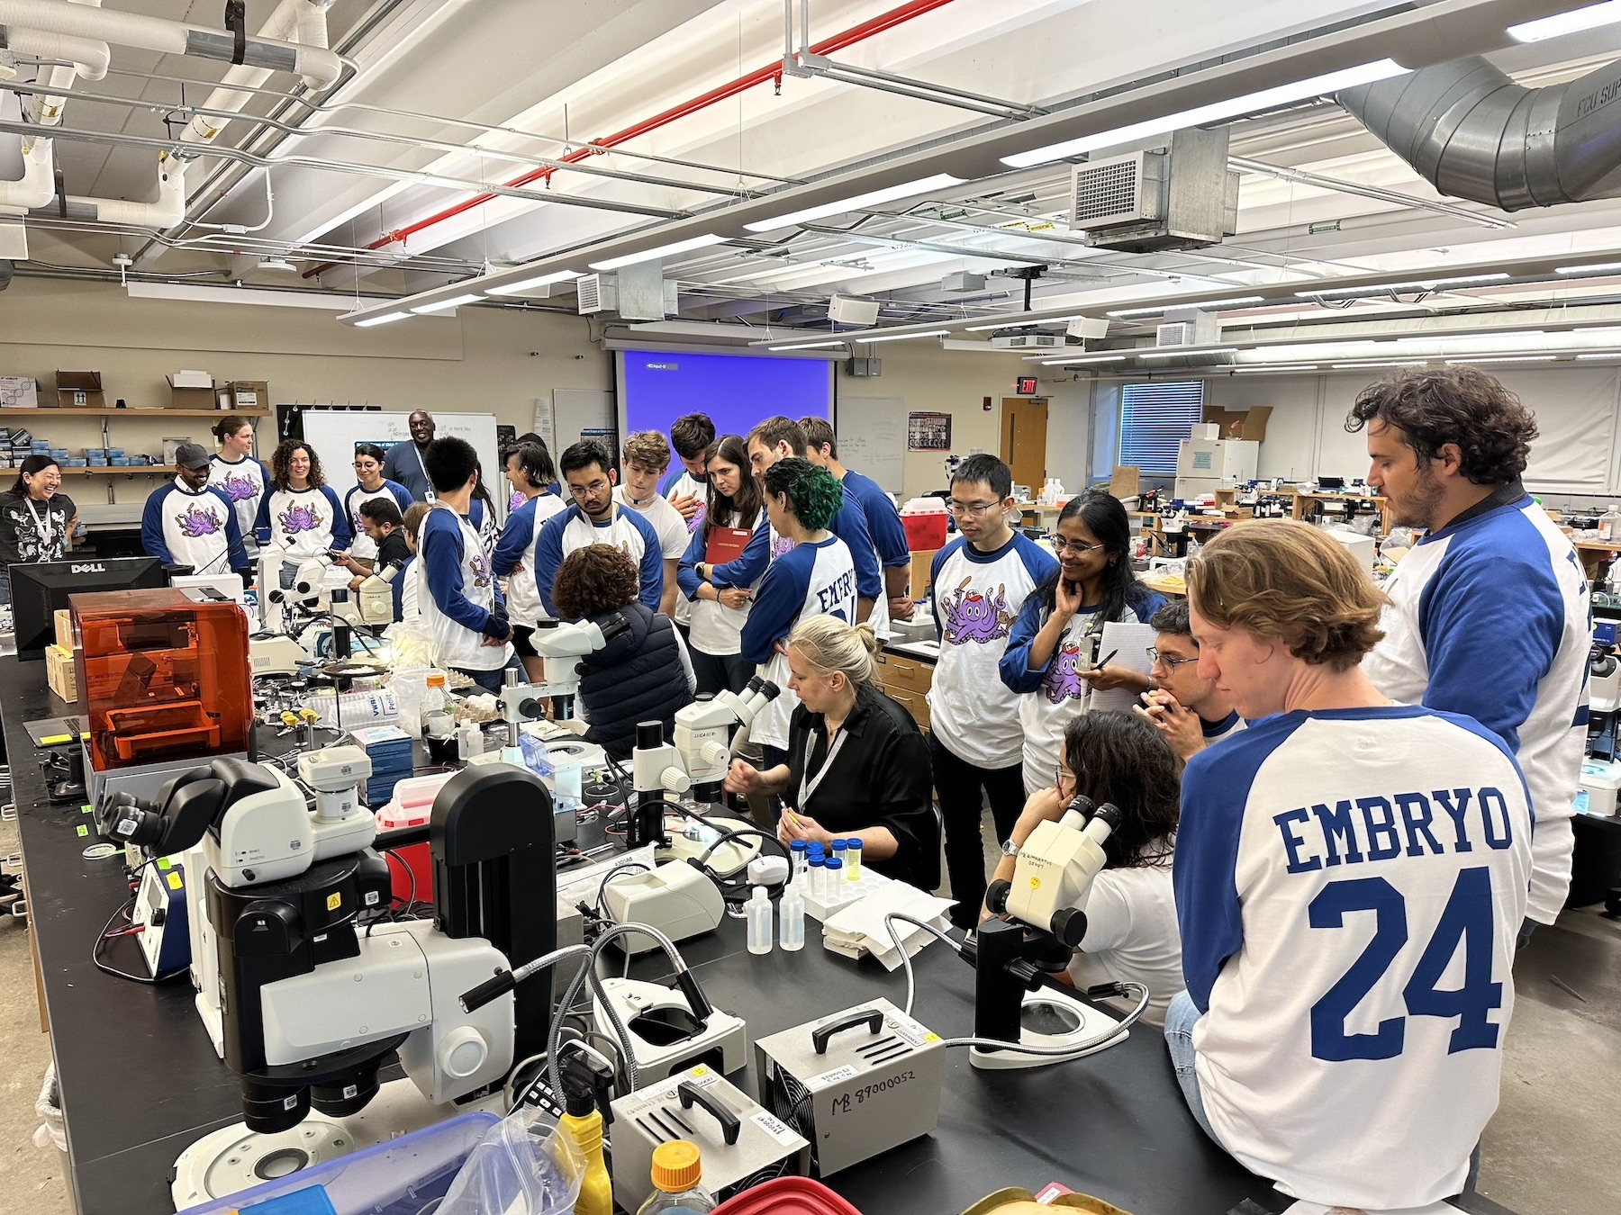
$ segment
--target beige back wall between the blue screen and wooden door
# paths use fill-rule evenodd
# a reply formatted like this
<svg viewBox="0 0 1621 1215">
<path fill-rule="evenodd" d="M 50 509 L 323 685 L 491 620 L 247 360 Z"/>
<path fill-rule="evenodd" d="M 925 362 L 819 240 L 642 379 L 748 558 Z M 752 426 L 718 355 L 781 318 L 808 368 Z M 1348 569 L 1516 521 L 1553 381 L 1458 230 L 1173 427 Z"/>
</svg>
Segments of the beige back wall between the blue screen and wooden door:
<svg viewBox="0 0 1621 1215">
<path fill-rule="evenodd" d="M 999 454 L 1002 399 L 1013 395 L 1013 381 L 1029 366 L 1018 355 L 981 355 L 940 350 L 930 339 L 885 342 L 872 347 L 883 360 L 877 379 L 856 379 L 840 364 L 838 397 L 898 397 L 908 411 L 952 415 L 952 452 L 968 455 L 976 447 Z M 1028 374 L 1028 373 L 1026 373 Z M 990 410 L 984 399 L 990 397 Z M 947 452 L 906 452 L 903 501 L 945 489 Z"/>
</svg>

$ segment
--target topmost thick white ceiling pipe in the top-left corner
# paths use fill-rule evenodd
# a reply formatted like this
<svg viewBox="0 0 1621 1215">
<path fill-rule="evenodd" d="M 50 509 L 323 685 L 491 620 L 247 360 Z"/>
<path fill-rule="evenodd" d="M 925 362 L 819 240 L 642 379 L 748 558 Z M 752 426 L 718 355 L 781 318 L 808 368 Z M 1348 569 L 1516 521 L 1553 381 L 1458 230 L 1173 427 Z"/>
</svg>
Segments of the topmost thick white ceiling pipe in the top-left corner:
<svg viewBox="0 0 1621 1215">
<path fill-rule="evenodd" d="M 89 8 L 68 0 L 0 0 L 0 24 L 225 63 L 235 60 L 237 49 L 235 37 L 227 31 L 110 8 Z M 302 76 L 311 89 L 324 89 L 344 70 L 344 60 L 324 47 L 300 47 L 272 39 L 246 39 L 242 62 L 254 68 L 290 71 Z"/>
</svg>

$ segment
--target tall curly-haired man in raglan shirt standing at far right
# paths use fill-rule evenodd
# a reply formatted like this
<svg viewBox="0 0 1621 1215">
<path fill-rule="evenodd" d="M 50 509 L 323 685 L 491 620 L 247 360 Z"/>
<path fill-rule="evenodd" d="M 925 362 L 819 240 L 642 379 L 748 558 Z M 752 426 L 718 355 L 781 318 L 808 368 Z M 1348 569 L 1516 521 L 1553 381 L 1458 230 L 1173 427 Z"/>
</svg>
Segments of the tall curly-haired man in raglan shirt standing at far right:
<svg viewBox="0 0 1621 1215">
<path fill-rule="evenodd" d="M 1363 663 L 1392 700 L 1467 713 L 1519 760 L 1537 812 L 1520 944 L 1571 888 L 1571 818 L 1587 747 L 1587 575 L 1520 486 L 1537 421 L 1477 368 L 1370 386 L 1368 484 L 1402 526 L 1426 528 L 1384 583 L 1384 640 Z"/>
</svg>

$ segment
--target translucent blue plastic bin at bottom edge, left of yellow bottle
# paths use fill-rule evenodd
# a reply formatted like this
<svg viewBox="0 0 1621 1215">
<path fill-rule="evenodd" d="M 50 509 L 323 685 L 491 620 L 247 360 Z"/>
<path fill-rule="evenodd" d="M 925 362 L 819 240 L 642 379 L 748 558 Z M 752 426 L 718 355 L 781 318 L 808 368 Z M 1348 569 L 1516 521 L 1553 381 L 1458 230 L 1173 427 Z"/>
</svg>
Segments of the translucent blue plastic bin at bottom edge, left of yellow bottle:
<svg viewBox="0 0 1621 1215">
<path fill-rule="evenodd" d="M 336 1215 L 418 1215 L 438 1205 L 467 1157 L 499 1121 L 490 1113 L 460 1115 L 277 1181 L 186 1207 L 185 1215 L 253 1215 L 254 1204 L 316 1186 L 326 1191 Z M 319 1202 L 314 1210 L 321 1210 Z"/>
</svg>

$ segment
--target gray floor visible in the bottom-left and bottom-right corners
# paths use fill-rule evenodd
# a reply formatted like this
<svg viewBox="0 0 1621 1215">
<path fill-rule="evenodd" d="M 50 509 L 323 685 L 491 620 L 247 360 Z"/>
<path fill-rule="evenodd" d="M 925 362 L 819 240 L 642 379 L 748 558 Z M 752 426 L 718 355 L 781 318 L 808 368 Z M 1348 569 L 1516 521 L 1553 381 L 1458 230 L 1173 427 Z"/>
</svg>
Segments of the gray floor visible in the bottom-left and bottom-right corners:
<svg viewBox="0 0 1621 1215">
<path fill-rule="evenodd" d="M 0 854 L 15 850 L 16 828 L 0 825 Z M 1616 1215 L 1621 923 L 1597 910 L 1566 912 L 1556 927 L 1532 938 L 1516 966 L 1516 983 L 1503 1098 L 1486 1128 L 1480 1192 L 1519 1215 Z M 0 1058 L 8 1059 L 0 1082 L 0 1194 L 6 1209 L 71 1215 L 65 1158 L 53 1147 L 34 1147 L 34 1100 L 50 1043 L 39 1032 L 28 932 L 11 917 L 0 917 Z"/>
</svg>

